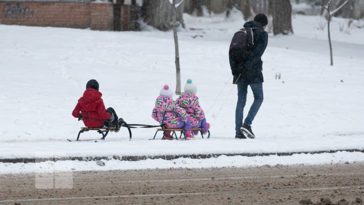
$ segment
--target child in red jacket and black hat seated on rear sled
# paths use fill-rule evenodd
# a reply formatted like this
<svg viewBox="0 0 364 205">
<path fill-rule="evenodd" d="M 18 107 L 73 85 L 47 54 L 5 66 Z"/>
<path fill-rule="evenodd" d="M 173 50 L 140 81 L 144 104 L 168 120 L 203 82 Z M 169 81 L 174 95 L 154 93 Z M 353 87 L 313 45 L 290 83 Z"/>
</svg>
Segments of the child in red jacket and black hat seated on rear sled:
<svg viewBox="0 0 364 205">
<path fill-rule="evenodd" d="M 86 127 L 100 128 L 110 125 L 110 127 L 116 127 L 115 132 L 118 132 L 122 124 L 122 118 L 118 120 L 113 108 L 105 109 L 101 96 L 102 93 L 99 92 L 98 81 L 95 79 L 88 80 L 86 90 L 78 100 L 72 115 L 82 119 Z"/>
</svg>

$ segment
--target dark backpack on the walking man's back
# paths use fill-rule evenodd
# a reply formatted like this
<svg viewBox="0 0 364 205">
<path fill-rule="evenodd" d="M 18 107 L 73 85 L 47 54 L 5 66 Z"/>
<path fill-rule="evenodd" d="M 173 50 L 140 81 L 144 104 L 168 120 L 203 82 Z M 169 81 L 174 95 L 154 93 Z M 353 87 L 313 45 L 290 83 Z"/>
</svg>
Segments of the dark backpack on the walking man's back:
<svg viewBox="0 0 364 205">
<path fill-rule="evenodd" d="M 229 58 L 235 62 L 244 62 L 253 52 L 253 48 L 253 28 L 242 28 L 233 36 L 229 49 Z"/>
</svg>

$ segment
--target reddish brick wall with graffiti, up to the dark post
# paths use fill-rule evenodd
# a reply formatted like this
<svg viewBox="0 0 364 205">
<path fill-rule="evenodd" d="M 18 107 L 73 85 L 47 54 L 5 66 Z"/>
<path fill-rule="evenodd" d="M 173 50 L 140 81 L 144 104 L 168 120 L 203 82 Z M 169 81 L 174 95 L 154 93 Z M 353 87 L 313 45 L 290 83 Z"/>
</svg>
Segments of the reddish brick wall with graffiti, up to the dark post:
<svg viewBox="0 0 364 205">
<path fill-rule="evenodd" d="M 0 23 L 112 30 L 113 5 L 90 2 L 0 0 Z"/>
</svg>

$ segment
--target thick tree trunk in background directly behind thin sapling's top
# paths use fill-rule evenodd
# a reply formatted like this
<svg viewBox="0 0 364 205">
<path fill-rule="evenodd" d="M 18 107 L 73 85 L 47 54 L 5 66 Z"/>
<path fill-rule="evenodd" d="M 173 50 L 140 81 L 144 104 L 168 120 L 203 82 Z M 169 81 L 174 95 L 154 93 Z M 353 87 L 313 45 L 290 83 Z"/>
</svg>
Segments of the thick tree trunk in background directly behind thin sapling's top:
<svg viewBox="0 0 364 205">
<path fill-rule="evenodd" d="M 177 3 L 179 3 L 179 0 Z M 183 27 L 183 11 L 185 2 L 178 6 L 176 9 L 176 20 L 181 23 Z M 172 28 L 172 5 L 168 0 L 148 0 L 143 1 L 142 17 L 144 21 L 159 30 L 169 30 Z"/>
</svg>

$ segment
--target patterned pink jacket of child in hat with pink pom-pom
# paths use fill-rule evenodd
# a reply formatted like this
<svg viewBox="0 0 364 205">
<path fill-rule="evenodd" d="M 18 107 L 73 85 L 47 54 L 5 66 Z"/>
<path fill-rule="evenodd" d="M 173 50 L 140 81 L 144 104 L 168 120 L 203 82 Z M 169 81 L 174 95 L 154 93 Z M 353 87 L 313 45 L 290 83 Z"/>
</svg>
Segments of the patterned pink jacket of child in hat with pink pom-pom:
<svg viewBox="0 0 364 205">
<path fill-rule="evenodd" d="M 160 125 L 167 125 L 168 128 L 175 128 L 179 125 L 180 120 L 186 122 L 188 119 L 186 111 L 179 107 L 173 99 L 166 96 L 158 96 L 152 117 Z"/>
</svg>

